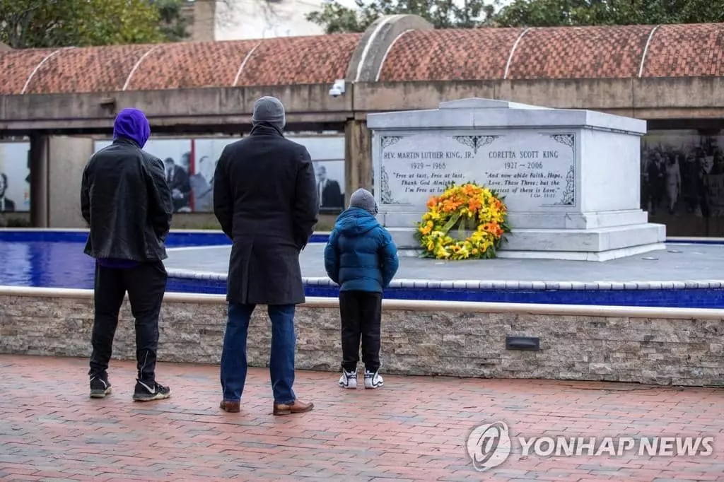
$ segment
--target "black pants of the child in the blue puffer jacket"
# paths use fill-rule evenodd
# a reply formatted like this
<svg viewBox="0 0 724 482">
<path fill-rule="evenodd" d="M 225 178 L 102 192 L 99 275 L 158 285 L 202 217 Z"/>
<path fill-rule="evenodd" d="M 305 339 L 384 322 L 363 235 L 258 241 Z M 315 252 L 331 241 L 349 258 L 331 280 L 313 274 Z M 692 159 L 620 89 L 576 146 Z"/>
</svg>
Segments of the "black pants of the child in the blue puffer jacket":
<svg viewBox="0 0 724 482">
<path fill-rule="evenodd" d="M 380 321 L 382 293 L 340 291 L 342 316 L 342 368 L 356 371 L 360 340 L 365 369 L 379 369 Z"/>
</svg>

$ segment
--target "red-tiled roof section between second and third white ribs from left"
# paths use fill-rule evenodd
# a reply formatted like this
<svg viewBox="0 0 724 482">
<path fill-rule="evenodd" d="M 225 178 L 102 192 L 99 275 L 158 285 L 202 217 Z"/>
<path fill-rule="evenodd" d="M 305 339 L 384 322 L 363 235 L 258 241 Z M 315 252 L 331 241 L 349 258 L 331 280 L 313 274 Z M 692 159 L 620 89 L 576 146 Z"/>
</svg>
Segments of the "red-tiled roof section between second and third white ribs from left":
<svg viewBox="0 0 724 482">
<path fill-rule="evenodd" d="M 258 41 L 164 43 L 153 48 L 131 77 L 128 90 L 233 85 Z"/>
</svg>

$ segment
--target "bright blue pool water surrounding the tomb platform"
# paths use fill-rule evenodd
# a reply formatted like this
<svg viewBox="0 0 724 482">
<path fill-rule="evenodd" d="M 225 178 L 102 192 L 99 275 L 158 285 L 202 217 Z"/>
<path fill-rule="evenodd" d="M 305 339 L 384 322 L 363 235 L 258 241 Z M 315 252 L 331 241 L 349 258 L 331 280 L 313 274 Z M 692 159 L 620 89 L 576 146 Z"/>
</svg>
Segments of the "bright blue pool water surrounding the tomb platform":
<svg viewBox="0 0 724 482">
<path fill-rule="evenodd" d="M 93 288 L 94 261 L 83 253 L 88 234 L 58 231 L 0 231 L 0 285 Z M 311 242 L 327 242 L 314 234 Z M 168 248 L 230 245 L 220 233 L 172 232 Z M 226 283 L 169 277 L 168 292 L 224 295 Z M 333 286 L 307 285 L 307 296 L 337 297 Z M 724 308 L 724 289 L 432 289 L 391 288 L 385 297 L 401 300 L 485 301 L 573 305 Z"/>
</svg>

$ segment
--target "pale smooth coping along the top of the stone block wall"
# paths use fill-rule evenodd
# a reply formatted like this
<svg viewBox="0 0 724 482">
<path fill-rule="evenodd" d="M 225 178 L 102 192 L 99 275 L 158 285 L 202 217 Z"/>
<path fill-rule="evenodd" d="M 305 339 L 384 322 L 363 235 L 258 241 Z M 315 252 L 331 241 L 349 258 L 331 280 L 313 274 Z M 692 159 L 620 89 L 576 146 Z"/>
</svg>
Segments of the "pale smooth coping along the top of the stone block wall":
<svg viewBox="0 0 724 482">
<path fill-rule="evenodd" d="M 0 286 L 0 296 L 49 297 L 85 299 L 93 298 L 93 289 L 37 288 Z M 203 303 L 225 305 L 225 295 L 167 292 L 164 301 L 169 303 Z M 468 301 L 434 300 L 382 300 L 386 310 L 447 311 L 466 313 L 509 313 L 523 315 L 559 316 L 608 316 L 633 318 L 668 318 L 684 320 L 724 320 L 724 310 L 710 308 L 660 308 L 645 306 L 606 305 L 546 305 L 542 303 L 482 303 Z M 307 297 L 306 308 L 339 308 L 339 300 L 333 297 Z"/>
</svg>

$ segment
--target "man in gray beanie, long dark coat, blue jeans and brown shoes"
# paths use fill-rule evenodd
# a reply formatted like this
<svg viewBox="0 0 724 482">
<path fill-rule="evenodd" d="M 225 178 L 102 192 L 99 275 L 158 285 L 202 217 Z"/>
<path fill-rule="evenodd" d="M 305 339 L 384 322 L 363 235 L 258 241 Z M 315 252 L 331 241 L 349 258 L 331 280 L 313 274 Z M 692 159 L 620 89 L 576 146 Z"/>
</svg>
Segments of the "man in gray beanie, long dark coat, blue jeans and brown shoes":
<svg viewBox="0 0 724 482">
<path fill-rule="evenodd" d="M 240 411 L 249 320 L 256 305 L 267 305 L 274 415 L 308 412 L 313 404 L 297 399 L 292 385 L 295 305 L 305 301 L 299 253 L 319 209 L 314 169 L 307 149 L 284 138 L 279 99 L 256 101 L 252 124 L 248 138 L 224 148 L 214 173 L 214 214 L 232 240 L 220 407 Z"/>
</svg>

